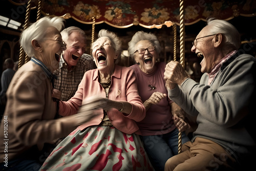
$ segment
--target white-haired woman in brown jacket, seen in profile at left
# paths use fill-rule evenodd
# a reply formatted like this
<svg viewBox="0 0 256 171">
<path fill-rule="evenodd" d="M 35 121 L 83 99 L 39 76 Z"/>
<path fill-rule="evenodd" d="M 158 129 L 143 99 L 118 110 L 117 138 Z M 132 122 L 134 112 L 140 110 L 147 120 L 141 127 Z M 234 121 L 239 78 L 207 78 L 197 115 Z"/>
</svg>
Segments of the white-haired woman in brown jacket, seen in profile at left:
<svg viewBox="0 0 256 171">
<path fill-rule="evenodd" d="M 52 98 L 52 73 L 66 49 L 59 32 L 64 21 L 43 17 L 20 36 L 20 45 L 31 60 L 15 73 L 7 90 L 0 134 L 1 170 L 38 170 L 49 154 L 46 146 L 91 118 L 83 113 L 55 119 L 58 106 Z"/>
</svg>

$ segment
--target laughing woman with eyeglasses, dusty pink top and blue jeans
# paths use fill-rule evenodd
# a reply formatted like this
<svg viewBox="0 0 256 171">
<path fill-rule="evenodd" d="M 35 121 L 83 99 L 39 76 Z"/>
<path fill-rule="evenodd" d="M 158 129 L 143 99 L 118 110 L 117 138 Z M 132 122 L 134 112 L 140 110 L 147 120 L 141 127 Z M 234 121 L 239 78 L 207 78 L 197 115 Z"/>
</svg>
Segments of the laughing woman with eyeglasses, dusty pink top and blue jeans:
<svg viewBox="0 0 256 171">
<path fill-rule="evenodd" d="M 184 111 L 167 97 L 164 71 L 166 63 L 157 62 L 161 50 L 157 37 L 138 31 L 129 42 L 129 53 L 136 64 L 138 91 L 146 109 L 146 117 L 137 122 L 142 132 L 145 151 L 156 170 L 164 170 L 165 162 L 178 154 L 178 134 L 188 128 Z M 189 138 L 182 133 L 182 143 Z"/>
</svg>

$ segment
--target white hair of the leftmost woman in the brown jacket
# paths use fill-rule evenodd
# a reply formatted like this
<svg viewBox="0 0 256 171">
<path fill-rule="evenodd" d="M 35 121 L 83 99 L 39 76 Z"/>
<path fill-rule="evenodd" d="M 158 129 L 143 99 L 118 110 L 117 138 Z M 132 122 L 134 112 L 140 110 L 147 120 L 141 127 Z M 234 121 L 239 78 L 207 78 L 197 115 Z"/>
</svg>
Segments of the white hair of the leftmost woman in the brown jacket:
<svg viewBox="0 0 256 171">
<path fill-rule="evenodd" d="M 37 22 L 31 24 L 20 35 L 19 43 L 29 57 L 35 56 L 35 50 L 32 47 L 31 41 L 37 40 L 41 42 L 44 40 L 46 30 L 49 27 L 55 27 L 58 31 L 64 28 L 65 19 L 61 17 L 45 16 L 40 18 Z"/>
</svg>

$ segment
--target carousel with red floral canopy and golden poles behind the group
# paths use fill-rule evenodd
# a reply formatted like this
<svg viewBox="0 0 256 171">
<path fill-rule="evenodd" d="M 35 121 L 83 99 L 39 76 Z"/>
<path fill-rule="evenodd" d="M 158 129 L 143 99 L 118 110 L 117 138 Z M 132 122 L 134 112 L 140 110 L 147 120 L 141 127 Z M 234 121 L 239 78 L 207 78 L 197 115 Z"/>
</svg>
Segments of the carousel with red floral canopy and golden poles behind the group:
<svg viewBox="0 0 256 171">
<path fill-rule="evenodd" d="M 189 75 L 195 74 L 195 68 L 193 69 L 191 66 L 197 61 L 191 60 L 196 56 L 189 59 L 188 56 L 190 55 L 187 51 L 190 51 L 191 42 L 202 29 L 202 27 L 195 29 L 193 26 L 205 22 L 208 17 L 230 21 L 234 18 L 240 18 L 240 20 L 253 18 L 255 21 L 256 15 L 256 0 L 9 0 L 8 3 L 15 5 L 16 9 L 24 9 L 24 12 L 15 11 L 14 9 L 17 14 L 25 15 L 24 28 L 22 28 L 24 30 L 30 22 L 35 22 L 40 17 L 48 15 L 63 17 L 67 20 L 67 25 L 76 25 L 84 29 L 90 42 L 94 41 L 95 35 L 101 28 L 118 32 L 121 35 L 120 37 L 123 36 L 123 52 L 120 65 L 127 67 L 132 65 L 127 53 L 127 42 L 130 41 L 135 31 L 154 32 L 159 37 L 163 48 L 163 55 L 159 60 L 165 62 L 178 60 L 186 68 Z M 238 25 L 252 30 L 251 24 L 239 23 Z M 195 34 L 193 34 L 193 30 Z M 248 31 L 248 33 L 252 32 Z M 241 47 L 244 47 L 242 49 L 252 51 L 252 55 L 255 56 L 255 33 L 253 32 L 249 36 L 243 33 L 241 37 Z M 1 40 L 0 52 L 4 44 L 5 40 Z M 15 40 L 14 44 L 11 44 L 11 47 L 14 48 L 18 45 L 18 41 Z M 88 42 L 88 47 L 90 47 L 89 45 Z M 90 51 L 90 48 L 88 50 Z M 24 53 L 22 47 L 19 47 L 18 51 L 18 68 L 20 68 L 30 59 Z M 179 152 L 181 151 L 181 141 L 181 136 L 179 136 Z"/>
</svg>

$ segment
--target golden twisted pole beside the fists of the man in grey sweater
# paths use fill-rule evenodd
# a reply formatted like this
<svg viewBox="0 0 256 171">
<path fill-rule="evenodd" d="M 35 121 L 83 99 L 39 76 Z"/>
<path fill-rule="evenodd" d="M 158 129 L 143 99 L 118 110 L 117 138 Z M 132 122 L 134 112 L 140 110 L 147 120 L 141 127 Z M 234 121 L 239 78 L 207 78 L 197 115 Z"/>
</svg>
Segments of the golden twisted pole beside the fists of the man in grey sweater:
<svg viewBox="0 0 256 171">
<path fill-rule="evenodd" d="M 185 41 L 184 41 L 184 7 L 183 7 L 183 0 L 180 0 L 180 64 L 184 68 L 184 57 L 185 57 Z M 181 140 L 182 133 L 179 132 L 178 135 L 178 154 L 181 153 L 181 146 L 182 146 L 182 140 Z"/>
</svg>

